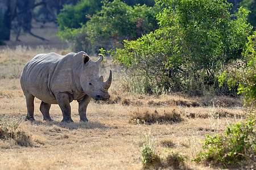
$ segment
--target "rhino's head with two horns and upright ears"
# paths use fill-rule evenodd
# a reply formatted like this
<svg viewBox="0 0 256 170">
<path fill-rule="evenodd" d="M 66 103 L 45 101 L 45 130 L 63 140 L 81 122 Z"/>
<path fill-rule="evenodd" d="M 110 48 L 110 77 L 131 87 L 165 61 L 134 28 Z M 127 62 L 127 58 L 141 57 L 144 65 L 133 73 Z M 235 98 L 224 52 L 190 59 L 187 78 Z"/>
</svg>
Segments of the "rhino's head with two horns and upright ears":
<svg viewBox="0 0 256 170">
<path fill-rule="evenodd" d="M 82 70 L 80 74 L 80 86 L 86 95 L 94 100 L 109 100 L 108 89 L 112 83 L 112 71 L 110 70 L 109 78 L 104 82 L 103 76 L 99 76 L 98 65 L 104 57 L 100 56 L 96 62 L 91 61 L 86 54 L 82 57 Z"/>
</svg>

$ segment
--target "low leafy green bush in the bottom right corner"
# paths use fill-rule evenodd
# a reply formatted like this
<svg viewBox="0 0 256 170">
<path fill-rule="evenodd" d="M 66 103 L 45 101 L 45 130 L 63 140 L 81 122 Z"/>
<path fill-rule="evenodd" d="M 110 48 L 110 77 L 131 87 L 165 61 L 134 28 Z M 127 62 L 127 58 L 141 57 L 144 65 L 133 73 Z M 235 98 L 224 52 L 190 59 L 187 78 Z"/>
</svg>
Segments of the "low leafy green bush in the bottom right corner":
<svg viewBox="0 0 256 170">
<path fill-rule="evenodd" d="M 203 149 L 192 161 L 220 164 L 222 167 L 238 165 L 244 159 L 256 158 L 255 117 L 246 122 L 228 126 L 224 134 L 206 135 Z"/>
</svg>

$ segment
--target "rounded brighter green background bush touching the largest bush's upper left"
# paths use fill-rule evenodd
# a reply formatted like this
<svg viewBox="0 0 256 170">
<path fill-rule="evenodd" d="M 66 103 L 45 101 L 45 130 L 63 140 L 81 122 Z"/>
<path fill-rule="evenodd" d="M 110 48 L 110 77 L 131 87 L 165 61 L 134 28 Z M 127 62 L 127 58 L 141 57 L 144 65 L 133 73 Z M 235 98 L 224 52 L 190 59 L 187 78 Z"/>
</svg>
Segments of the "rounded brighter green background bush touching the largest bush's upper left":
<svg viewBox="0 0 256 170">
<path fill-rule="evenodd" d="M 122 40 L 135 40 L 158 28 L 156 14 L 159 6 L 128 6 L 120 0 L 104 2 L 101 12 L 93 15 L 87 23 L 93 42 L 121 43 Z"/>
</svg>

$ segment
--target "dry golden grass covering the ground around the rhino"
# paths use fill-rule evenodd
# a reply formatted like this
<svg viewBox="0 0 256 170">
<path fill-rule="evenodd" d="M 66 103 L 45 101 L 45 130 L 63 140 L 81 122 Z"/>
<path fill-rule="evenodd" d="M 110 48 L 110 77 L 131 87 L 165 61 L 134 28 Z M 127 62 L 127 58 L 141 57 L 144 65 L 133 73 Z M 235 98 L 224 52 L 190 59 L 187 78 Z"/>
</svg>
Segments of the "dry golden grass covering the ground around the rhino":
<svg viewBox="0 0 256 170">
<path fill-rule="evenodd" d="M 189 162 L 201 150 L 199 140 L 204 139 L 205 134 L 221 133 L 226 125 L 244 119 L 238 104 L 241 101 L 229 106 L 214 103 L 206 107 L 201 102 L 203 99 L 189 99 L 179 94 L 159 97 L 131 95 L 123 91 L 118 81 L 118 71 L 113 70 L 113 84 L 109 90 L 111 99 L 89 104 L 90 122 L 79 122 L 76 101 L 71 103 L 73 123 L 60 123 L 62 115 L 58 105 L 52 105 L 50 110 L 54 121 L 42 121 L 38 99 L 35 100 L 36 121 L 24 122 L 26 101 L 18 77 L 24 63 L 41 52 L 36 50 L 27 49 L 29 52 L 26 54 L 9 50 L 0 52 L 0 68 L 5 68 L 0 73 L 0 119 L 10 116 L 19 120 L 15 133 L 22 131 L 31 140 L 31 146 L 26 147 L 10 139 L 1 139 L 0 169 L 141 169 L 139 147 L 142 134 L 148 132 L 157 141 L 159 151 L 170 148 L 187 155 L 188 161 L 184 167 L 208 169 Z M 11 54 L 19 55 L 9 58 Z M 20 69 L 13 76 L 9 68 L 18 68 L 16 61 Z M 114 66 L 105 64 L 101 71 L 108 75 L 109 69 L 114 69 Z M 224 103 L 221 98 L 218 100 Z M 229 103 L 234 99 L 225 97 L 225 100 L 225 103 Z M 136 119 L 142 117 L 143 120 L 147 113 L 157 114 L 160 121 L 151 122 L 150 125 L 143 121 L 138 123 Z M 170 121 L 164 121 L 165 113 L 170 113 Z M 172 120 L 174 117 L 179 121 Z M 134 119 L 135 122 L 131 121 Z"/>
</svg>

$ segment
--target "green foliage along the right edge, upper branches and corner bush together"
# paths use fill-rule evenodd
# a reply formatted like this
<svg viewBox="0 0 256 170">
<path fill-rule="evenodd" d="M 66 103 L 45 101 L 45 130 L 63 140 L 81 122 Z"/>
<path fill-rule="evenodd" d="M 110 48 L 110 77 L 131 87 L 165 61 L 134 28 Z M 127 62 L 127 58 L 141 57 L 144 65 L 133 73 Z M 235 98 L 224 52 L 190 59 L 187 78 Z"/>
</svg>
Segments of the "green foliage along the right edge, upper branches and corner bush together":
<svg viewBox="0 0 256 170">
<path fill-rule="evenodd" d="M 238 84 L 238 93 L 245 95 L 247 120 L 227 127 L 225 134 L 206 135 L 203 143 L 204 152 L 194 160 L 220 164 L 222 167 L 240 167 L 254 169 L 256 164 L 255 133 L 255 98 L 256 98 L 256 32 L 248 37 L 246 48 L 242 53 L 242 67 L 233 74 L 226 71 L 219 76 L 220 85 L 224 82 L 230 86 Z M 246 162 L 247 160 L 247 162 Z M 245 161 L 245 162 L 244 162 Z"/>
</svg>

